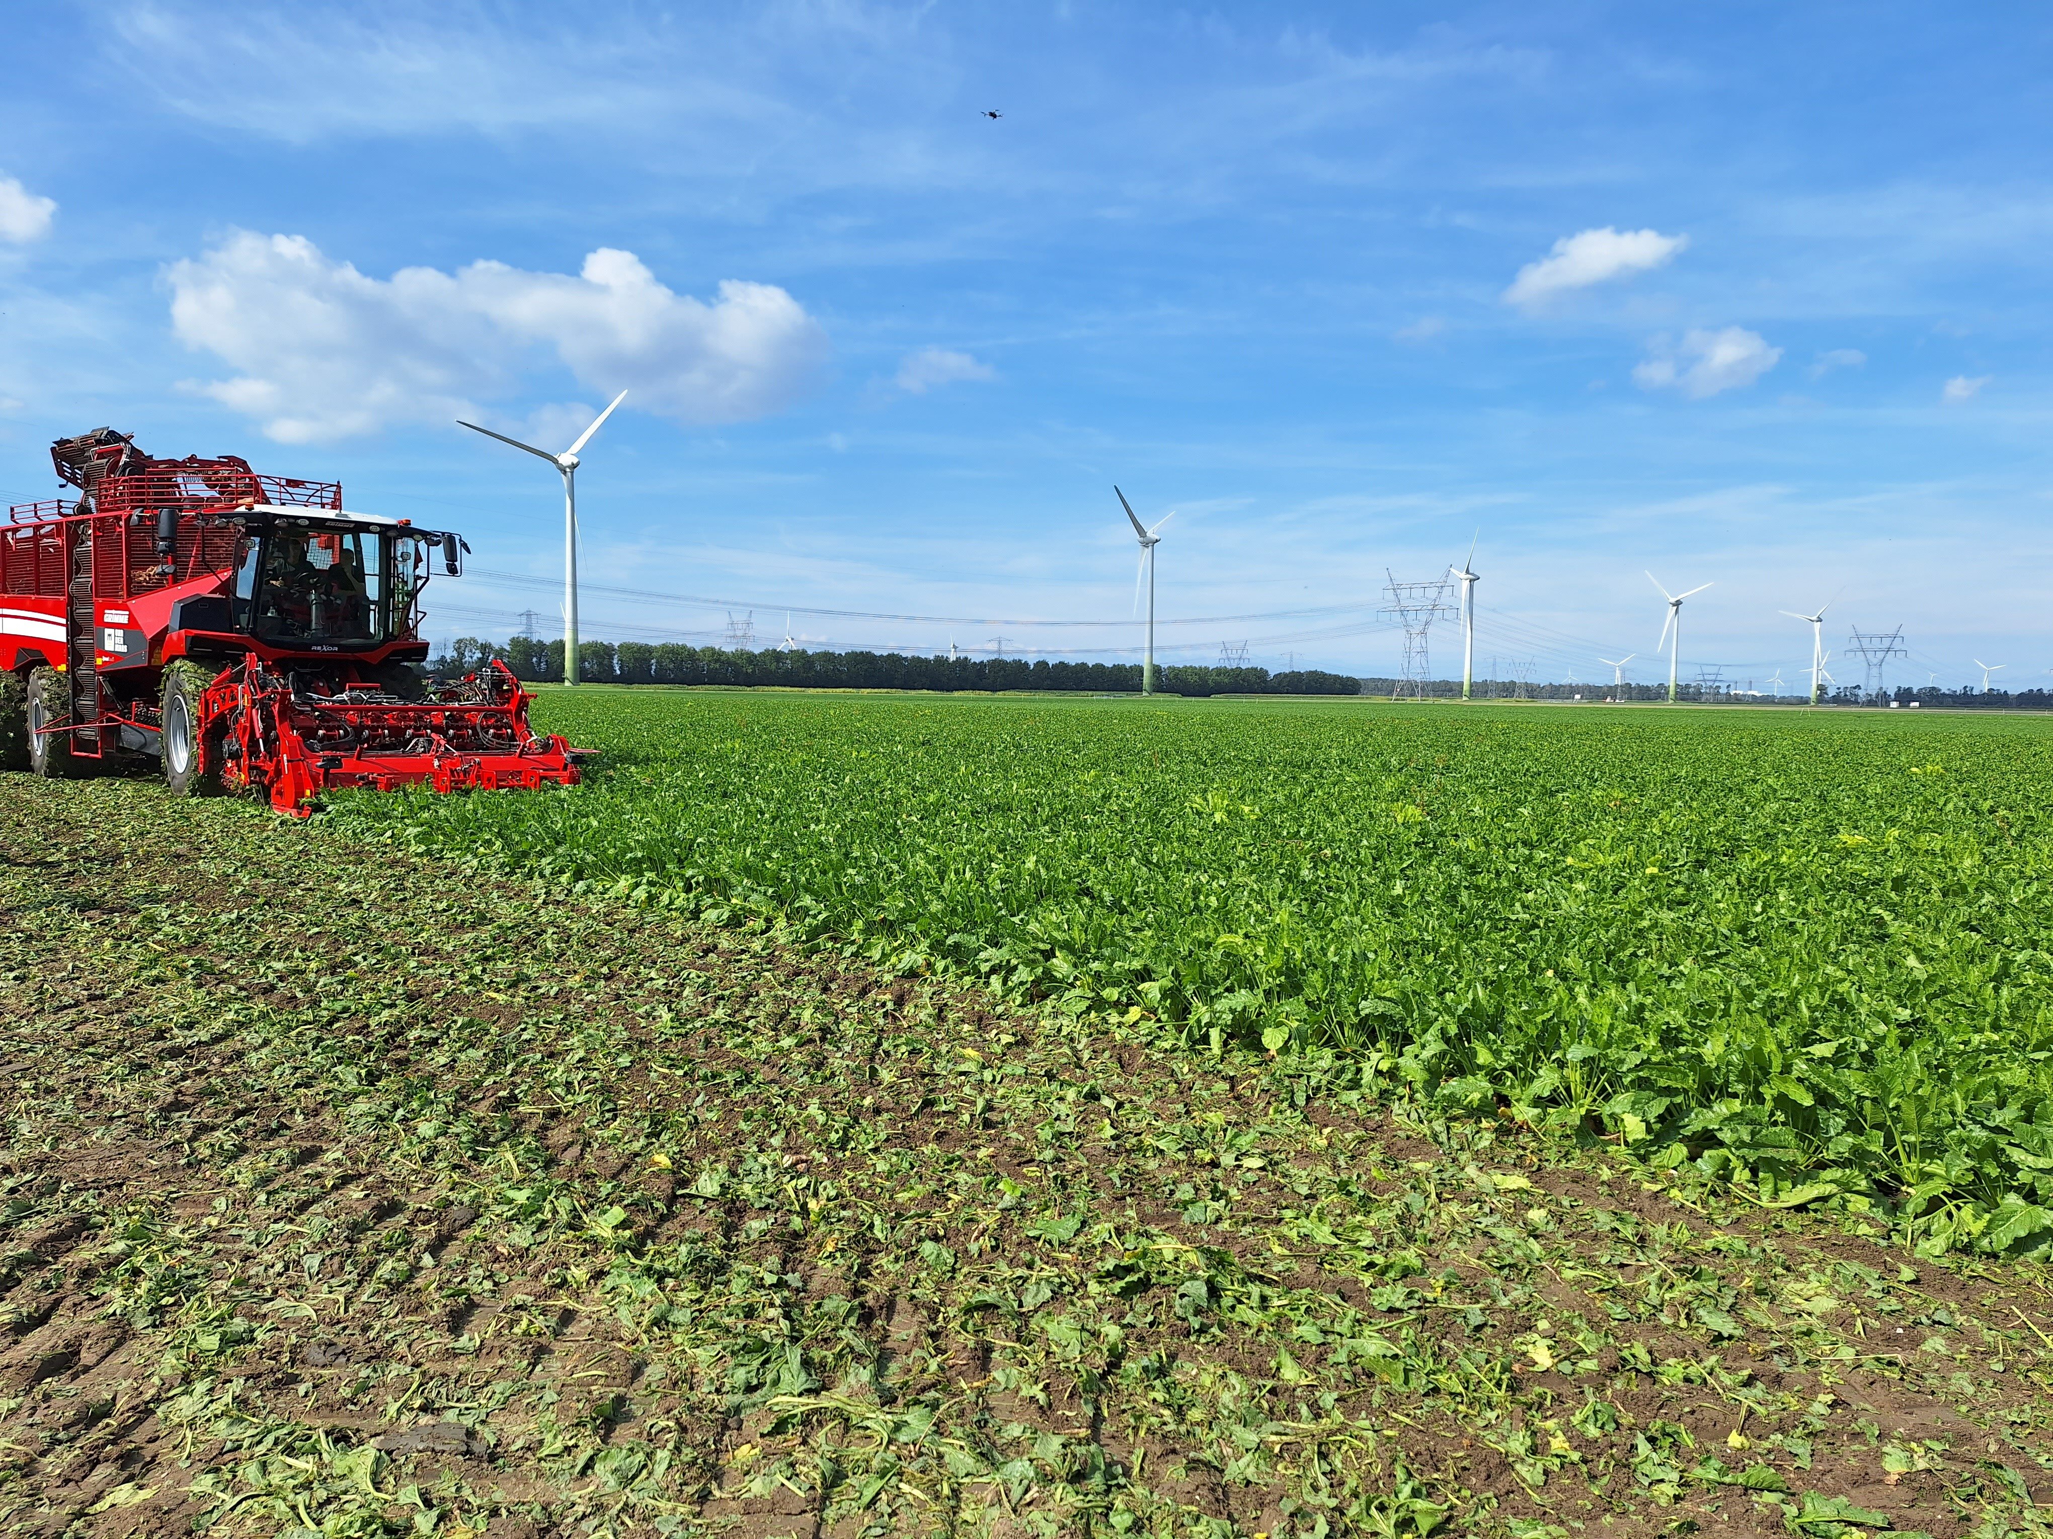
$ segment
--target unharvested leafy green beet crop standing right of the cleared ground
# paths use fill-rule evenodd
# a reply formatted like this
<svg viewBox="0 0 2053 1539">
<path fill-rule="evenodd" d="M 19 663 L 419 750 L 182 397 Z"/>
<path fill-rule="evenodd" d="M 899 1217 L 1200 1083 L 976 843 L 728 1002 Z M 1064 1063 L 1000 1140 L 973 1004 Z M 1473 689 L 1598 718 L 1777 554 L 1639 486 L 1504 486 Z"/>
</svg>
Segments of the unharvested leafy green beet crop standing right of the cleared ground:
<svg viewBox="0 0 2053 1539">
<path fill-rule="evenodd" d="M 433 852 L 770 913 L 1195 1051 L 2053 1239 L 2053 737 L 2022 718 L 550 694 Z"/>
</svg>

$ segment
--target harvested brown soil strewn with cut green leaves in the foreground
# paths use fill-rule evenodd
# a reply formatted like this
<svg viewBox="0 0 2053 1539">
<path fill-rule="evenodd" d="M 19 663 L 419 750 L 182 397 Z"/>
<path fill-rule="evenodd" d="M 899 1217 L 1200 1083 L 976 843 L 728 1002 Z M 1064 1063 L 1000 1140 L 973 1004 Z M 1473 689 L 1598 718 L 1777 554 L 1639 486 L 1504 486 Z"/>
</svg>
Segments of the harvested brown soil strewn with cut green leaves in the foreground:
<svg viewBox="0 0 2053 1539">
<path fill-rule="evenodd" d="M 148 786 L 4 778 L 0 860 L 10 1533 L 2053 1498 L 2032 1268 Z"/>
</svg>

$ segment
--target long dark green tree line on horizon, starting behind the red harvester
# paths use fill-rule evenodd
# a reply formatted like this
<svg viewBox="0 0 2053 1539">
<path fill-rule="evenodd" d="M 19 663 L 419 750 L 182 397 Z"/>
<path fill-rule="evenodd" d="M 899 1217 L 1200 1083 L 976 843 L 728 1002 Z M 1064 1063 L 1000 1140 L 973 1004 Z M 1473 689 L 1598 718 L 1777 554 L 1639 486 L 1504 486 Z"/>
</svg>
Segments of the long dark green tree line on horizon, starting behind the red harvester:
<svg viewBox="0 0 2053 1539">
<path fill-rule="evenodd" d="M 472 673 L 499 659 L 534 683 L 563 681 L 563 642 L 513 636 L 507 642 L 460 636 L 429 663 L 443 675 Z M 907 653 L 729 650 L 682 642 L 579 642 L 577 677 L 585 683 L 719 683 L 784 689 L 1080 689 L 1135 694 L 1139 663 L 1049 663 L 1024 657 L 918 657 Z M 1353 696 L 1361 679 L 1345 673 L 1256 667 L 1172 665 L 1156 669 L 1168 696 Z"/>
</svg>

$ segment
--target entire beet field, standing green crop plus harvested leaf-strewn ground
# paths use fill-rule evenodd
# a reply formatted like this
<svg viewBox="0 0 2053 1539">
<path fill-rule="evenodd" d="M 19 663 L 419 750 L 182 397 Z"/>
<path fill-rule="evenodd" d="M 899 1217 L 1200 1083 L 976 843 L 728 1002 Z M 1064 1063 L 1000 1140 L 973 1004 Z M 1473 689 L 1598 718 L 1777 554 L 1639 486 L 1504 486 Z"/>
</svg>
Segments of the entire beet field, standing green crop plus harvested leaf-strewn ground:
<svg viewBox="0 0 2053 1539">
<path fill-rule="evenodd" d="M 0 776 L 0 1531 L 2049 1531 L 2053 722 L 536 710 Z"/>
</svg>

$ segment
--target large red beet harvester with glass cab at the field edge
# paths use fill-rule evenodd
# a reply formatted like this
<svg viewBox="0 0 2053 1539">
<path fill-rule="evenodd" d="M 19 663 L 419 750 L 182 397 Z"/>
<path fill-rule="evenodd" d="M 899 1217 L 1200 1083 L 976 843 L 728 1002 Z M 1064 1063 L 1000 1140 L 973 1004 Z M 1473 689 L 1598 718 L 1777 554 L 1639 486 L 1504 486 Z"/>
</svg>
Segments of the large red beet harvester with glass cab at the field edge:
<svg viewBox="0 0 2053 1539">
<path fill-rule="evenodd" d="M 234 456 L 152 460 L 113 429 L 51 445 L 76 499 L 0 525 L 0 767 L 154 755 L 172 790 L 292 815 L 331 786 L 575 786 L 499 663 L 423 679 L 429 552 L 458 536 L 343 509 L 337 482 Z"/>
</svg>

